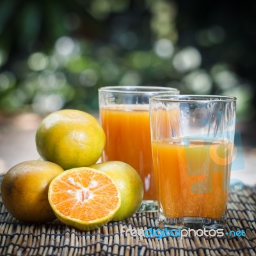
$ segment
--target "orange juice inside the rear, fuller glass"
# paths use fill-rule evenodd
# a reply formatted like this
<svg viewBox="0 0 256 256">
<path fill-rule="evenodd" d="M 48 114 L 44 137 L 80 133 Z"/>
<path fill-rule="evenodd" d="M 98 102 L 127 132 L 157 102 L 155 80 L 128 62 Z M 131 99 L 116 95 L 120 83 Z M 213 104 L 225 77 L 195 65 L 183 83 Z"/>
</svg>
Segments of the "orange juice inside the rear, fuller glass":
<svg viewBox="0 0 256 256">
<path fill-rule="evenodd" d="M 115 105 L 100 108 L 106 133 L 103 161 L 123 161 L 140 174 L 144 200 L 156 200 L 148 105 Z"/>
</svg>

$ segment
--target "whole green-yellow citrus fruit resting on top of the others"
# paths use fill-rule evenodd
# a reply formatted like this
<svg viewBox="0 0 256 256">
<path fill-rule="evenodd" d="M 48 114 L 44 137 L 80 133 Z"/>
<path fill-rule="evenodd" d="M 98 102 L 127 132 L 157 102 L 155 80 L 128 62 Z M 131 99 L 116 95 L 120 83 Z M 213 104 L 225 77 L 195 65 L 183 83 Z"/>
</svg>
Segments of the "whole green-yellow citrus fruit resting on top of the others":
<svg viewBox="0 0 256 256">
<path fill-rule="evenodd" d="M 105 143 L 104 131 L 97 120 L 74 109 L 51 113 L 36 131 L 40 156 L 65 170 L 96 163 Z"/>
</svg>

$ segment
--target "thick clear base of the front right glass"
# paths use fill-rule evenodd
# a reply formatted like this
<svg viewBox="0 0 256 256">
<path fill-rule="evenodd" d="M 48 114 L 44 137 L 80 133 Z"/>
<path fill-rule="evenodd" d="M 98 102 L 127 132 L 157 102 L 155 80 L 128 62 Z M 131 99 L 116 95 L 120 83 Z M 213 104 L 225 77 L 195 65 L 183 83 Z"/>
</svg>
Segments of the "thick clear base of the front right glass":
<svg viewBox="0 0 256 256">
<path fill-rule="evenodd" d="M 192 228 L 192 229 L 219 229 L 225 228 L 227 218 L 222 216 L 220 219 L 209 218 L 167 218 L 161 212 L 158 213 L 159 228 Z"/>
</svg>

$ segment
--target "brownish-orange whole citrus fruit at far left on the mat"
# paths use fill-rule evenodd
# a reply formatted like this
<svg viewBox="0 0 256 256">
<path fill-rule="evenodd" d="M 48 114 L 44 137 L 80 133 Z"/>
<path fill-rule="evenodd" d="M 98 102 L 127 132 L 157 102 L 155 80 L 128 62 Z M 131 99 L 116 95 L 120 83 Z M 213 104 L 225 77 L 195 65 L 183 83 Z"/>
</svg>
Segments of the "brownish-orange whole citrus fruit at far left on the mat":
<svg viewBox="0 0 256 256">
<path fill-rule="evenodd" d="M 3 178 L 1 193 L 6 209 L 25 222 L 56 219 L 48 202 L 51 180 L 63 169 L 47 161 L 25 161 L 13 166 Z"/>
</svg>

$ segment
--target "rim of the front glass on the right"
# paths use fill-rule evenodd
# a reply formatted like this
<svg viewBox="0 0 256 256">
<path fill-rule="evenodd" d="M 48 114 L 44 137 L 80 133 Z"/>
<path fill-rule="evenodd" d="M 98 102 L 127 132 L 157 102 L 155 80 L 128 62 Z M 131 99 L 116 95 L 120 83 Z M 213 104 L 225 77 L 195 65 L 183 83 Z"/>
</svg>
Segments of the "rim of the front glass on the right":
<svg viewBox="0 0 256 256">
<path fill-rule="evenodd" d="M 183 99 L 185 98 L 185 99 Z M 187 99 L 186 99 L 187 98 Z M 151 102 L 191 102 L 191 103 L 209 103 L 209 102 L 236 102 L 236 97 L 223 95 L 156 95 L 150 97 Z"/>
</svg>

